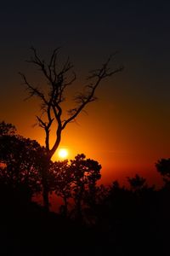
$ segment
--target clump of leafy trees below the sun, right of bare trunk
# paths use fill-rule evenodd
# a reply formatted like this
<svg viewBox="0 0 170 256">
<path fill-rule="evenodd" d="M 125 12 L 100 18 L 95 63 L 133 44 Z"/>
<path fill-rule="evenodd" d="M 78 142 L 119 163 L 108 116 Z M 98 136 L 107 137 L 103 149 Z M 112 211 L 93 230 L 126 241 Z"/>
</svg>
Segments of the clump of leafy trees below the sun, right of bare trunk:
<svg viewBox="0 0 170 256">
<path fill-rule="evenodd" d="M 53 180 L 50 187 L 63 199 L 64 205 L 60 210 L 65 216 L 68 216 L 71 198 L 74 201 L 74 210 L 71 210 L 70 215 L 74 212 L 76 218 L 82 217 L 82 205 L 94 207 L 99 193 L 96 182 L 101 177 L 100 169 L 97 161 L 86 159 L 84 154 L 77 154 L 70 164 L 68 160 L 51 163 Z"/>
</svg>

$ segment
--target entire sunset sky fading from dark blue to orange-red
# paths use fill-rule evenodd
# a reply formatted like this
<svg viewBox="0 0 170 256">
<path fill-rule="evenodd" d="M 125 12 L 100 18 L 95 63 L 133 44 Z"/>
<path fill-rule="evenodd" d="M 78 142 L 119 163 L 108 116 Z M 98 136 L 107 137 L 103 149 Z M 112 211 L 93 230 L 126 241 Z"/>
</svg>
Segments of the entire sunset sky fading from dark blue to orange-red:
<svg viewBox="0 0 170 256">
<path fill-rule="evenodd" d="M 61 146 L 70 157 L 99 160 L 104 180 L 139 172 L 156 180 L 154 164 L 170 157 L 170 3 L 168 1 L 8 1 L 0 9 L 0 119 L 42 143 L 32 128 L 38 104 L 24 102 L 18 72 L 37 81 L 25 62 L 31 45 L 42 56 L 58 46 L 70 55 L 76 89 L 88 71 L 119 50 L 122 73 L 101 84 L 99 100 L 68 126 Z"/>
</svg>

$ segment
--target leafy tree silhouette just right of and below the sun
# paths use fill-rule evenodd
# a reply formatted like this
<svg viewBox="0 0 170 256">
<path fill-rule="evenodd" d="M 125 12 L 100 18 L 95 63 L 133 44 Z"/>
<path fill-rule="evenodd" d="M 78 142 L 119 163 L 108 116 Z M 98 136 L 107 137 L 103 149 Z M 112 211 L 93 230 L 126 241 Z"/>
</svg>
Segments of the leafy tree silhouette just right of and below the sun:
<svg viewBox="0 0 170 256">
<path fill-rule="evenodd" d="M 96 182 L 101 177 L 101 166 L 95 160 L 86 159 L 84 154 L 77 154 L 71 160 L 73 173 L 72 198 L 75 201 L 75 217 L 82 221 L 82 207 L 92 206 L 96 199 Z"/>
</svg>

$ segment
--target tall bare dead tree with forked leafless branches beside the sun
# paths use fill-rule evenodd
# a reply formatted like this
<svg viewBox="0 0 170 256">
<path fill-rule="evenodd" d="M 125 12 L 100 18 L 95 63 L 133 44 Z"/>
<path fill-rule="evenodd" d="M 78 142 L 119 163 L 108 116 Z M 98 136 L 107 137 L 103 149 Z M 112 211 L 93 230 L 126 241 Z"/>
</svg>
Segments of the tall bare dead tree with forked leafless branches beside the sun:
<svg viewBox="0 0 170 256">
<path fill-rule="evenodd" d="M 76 80 L 76 73 L 74 73 L 71 61 L 68 58 L 64 65 L 60 67 L 59 65 L 59 48 L 54 49 L 53 54 L 50 56 L 49 61 L 44 61 L 37 54 L 37 49 L 31 47 L 32 57 L 28 61 L 38 67 L 47 82 L 48 89 L 42 91 L 37 88 L 26 79 L 24 73 L 20 73 L 26 89 L 28 90 L 29 96 L 37 96 L 41 102 L 42 115 L 37 116 L 37 123 L 45 131 L 45 150 L 47 155 L 47 163 L 44 167 L 44 175 L 42 177 L 43 185 L 43 201 L 44 207 L 48 210 L 48 168 L 49 161 L 54 155 L 55 151 L 59 147 L 61 141 L 61 134 L 65 127 L 75 120 L 79 113 L 88 105 L 90 102 L 94 102 L 96 97 L 94 95 L 95 91 L 99 87 L 102 80 L 111 77 L 115 73 L 122 71 L 123 67 L 118 67 L 111 70 L 109 67 L 112 57 L 115 55 L 110 55 L 105 64 L 99 69 L 95 69 L 90 72 L 88 77 L 88 85 L 85 86 L 85 92 L 78 94 L 74 97 L 75 107 L 67 110 L 67 118 L 63 118 L 63 106 L 62 102 L 65 102 L 65 91 L 67 88 L 73 84 Z M 47 93 L 48 91 L 48 93 Z M 50 147 L 50 131 L 52 125 L 55 125 L 56 137 L 54 144 Z"/>
</svg>

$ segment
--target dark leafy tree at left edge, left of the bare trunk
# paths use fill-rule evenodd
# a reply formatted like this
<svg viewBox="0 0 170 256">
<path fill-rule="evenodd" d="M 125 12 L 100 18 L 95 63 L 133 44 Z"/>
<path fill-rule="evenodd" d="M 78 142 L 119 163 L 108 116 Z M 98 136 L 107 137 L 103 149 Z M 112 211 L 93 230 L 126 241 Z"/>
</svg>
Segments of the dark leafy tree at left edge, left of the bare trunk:
<svg viewBox="0 0 170 256">
<path fill-rule="evenodd" d="M 0 123 L 0 183 L 30 197 L 42 190 L 43 149 L 16 134 L 14 125 Z M 25 194 L 26 194 L 25 193 Z"/>
</svg>

